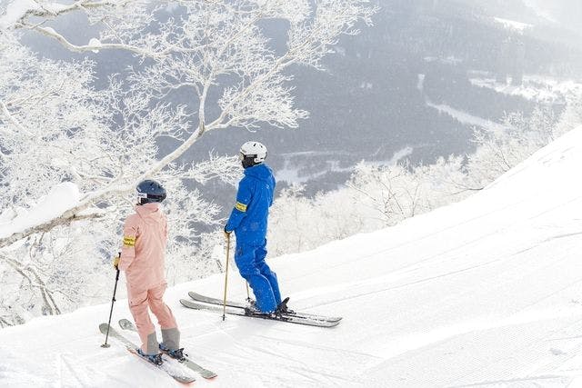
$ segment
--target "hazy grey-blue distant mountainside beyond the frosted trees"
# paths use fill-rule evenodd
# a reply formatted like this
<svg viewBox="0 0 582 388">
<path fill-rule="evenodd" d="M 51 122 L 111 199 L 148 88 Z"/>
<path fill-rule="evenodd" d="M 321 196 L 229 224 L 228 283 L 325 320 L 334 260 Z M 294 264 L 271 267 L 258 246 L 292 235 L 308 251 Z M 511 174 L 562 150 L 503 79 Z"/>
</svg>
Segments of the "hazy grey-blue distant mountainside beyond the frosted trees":
<svg viewBox="0 0 582 388">
<path fill-rule="evenodd" d="M 228 129 L 226 135 L 208 133 L 182 161 L 206 160 L 203 150 L 236 154 L 240 144 L 253 137 L 268 144 L 269 162 L 276 172 L 289 172 L 277 176 L 279 188 L 301 182 L 308 194 L 315 194 L 344 184 L 362 159 L 386 162 L 408 147 L 412 148 L 411 161 L 424 164 L 440 156 L 470 153 L 474 125 L 500 123 L 510 112 L 531 114 L 539 103 L 551 105 L 558 113 L 566 96 L 580 87 L 580 35 L 554 20 L 556 15 L 551 20 L 537 15 L 539 7 L 526 5 L 532 2 L 539 3 L 373 0 L 380 7 L 373 17 L 374 26 L 358 25 L 360 35 L 341 37 L 335 54 L 323 61 L 324 71 L 306 66 L 289 69 L 288 75 L 294 79 L 287 86 L 295 89 L 296 107 L 310 112 L 308 120 L 300 121 L 299 130 L 281 131 L 262 124 L 256 134 L 237 128 Z M 559 3 L 568 2 L 573 3 Z M 581 19 L 577 6 L 561 7 L 572 19 Z M 0 2 L 0 14 L 2 8 Z M 179 7 L 168 7 L 156 16 L 163 21 L 183 15 Z M 76 45 L 87 44 L 98 29 L 87 26 L 79 15 L 47 25 Z M 285 23 L 271 21 L 260 26 L 276 52 L 285 48 Z M 31 32 L 24 33 L 23 42 L 49 58 L 70 61 L 85 57 Z M 108 84 L 110 75 L 126 76 L 123 69 L 127 66 L 142 66 L 139 58 L 132 60 L 123 51 L 86 55 L 96 64 L 97 89 Z M 422 91 L 417 87 L 419 77 Z M 216 101 L 220 95 L 217 88 L 210 100 Z M 165 101 L 187 104 L 196 118 L 198 105 L 192 91 L 178 89 Z M 448 109 L 439 109 L 441 106 Z M 209 117 L 218 114 L 212 104 L 207 109 Z M 470 114 L 477 120 L 467 123 L 451 112 Z M 172 139 L 162 141 L 160 154 L 166 154 L 173 144 Z M 226 209 L 230 207 L 231 194 L 223 186 L 210 184 L 203 190 Z"/>
</svg>

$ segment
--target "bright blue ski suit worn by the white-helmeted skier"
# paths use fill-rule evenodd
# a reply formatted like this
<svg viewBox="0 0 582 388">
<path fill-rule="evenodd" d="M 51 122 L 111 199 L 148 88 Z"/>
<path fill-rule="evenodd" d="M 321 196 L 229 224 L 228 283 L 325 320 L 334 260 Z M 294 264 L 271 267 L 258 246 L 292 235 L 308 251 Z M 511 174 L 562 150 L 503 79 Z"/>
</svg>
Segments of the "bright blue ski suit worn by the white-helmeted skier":
<svg viewBox="0 0 582 388">
<path fill-rule="evenodd" d="M 266 164 L 247 167 L 225 226 L 226 231 L 235 231 L 236 266 L 253 289 L 256 307 L 263 313 L 274 312 L 281 303 L 276 274 L 265 262 L 266 225 L 275 184 L 273 172 Z"/>
</svg>

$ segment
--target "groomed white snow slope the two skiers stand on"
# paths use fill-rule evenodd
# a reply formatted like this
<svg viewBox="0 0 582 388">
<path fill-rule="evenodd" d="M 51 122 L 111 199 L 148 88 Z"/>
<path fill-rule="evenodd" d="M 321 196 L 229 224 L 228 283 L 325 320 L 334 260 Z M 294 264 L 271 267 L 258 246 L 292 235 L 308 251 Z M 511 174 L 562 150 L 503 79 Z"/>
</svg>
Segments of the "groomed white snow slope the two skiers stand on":
<svg viewBox="0 0 582 388">
<path fill-rule="evenodd" d="M 463 203 L 272 260 L 293 307 L 344 316 L 334 329 L 178 304 L 220 295 L 222 276 L 172 288 L 183 344 L 219 374 L 196 386 L 582 384 L 581 166 L 582 127 Z M 235 274 L 229 289 L 246 295 Z M 115 341 L 99 347 L 108 310 L 0 331 L 0 386 L 175 386 Z"/>
</svg>

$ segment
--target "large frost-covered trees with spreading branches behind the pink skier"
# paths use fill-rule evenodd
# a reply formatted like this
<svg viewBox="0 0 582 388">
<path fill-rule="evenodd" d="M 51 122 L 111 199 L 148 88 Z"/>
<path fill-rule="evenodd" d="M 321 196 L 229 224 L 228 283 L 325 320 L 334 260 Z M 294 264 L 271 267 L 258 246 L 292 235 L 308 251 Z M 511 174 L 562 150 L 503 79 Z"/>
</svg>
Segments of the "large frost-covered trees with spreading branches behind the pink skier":
<svg viewBox="0 0 582 388">
<path fill-rule="evenodd" d="M 167 7 L 175 16 L 162 17 Z M 366 0 L 8 3 L 0 16 L 0 174 L 6 189 L 0 263 L 11 286 L 16 282 L 26 292 L 3 301 L 18 308 L 3 311 L 2 322 L 78 305 L 90 293 L 83 284 L 94 282 L 98 266 L 115 252 L 120 219 L 133 203 L 135 184 L 147 177 L 163 181 L 171 193 L 168 254 L 176 260 L 168 277 L 184 280 L 215 265 L 216 236 L 197 232 L 196 225 L 216 224 L 218 209 L 186 183 L 235 182 L 239 171 L 233 158 L 211 155 L 197 164 L 178 164 L 178 158 L 209 131 L 265 123 L 295 128 L 307 113 L 291 94 L 294 66 L 321 68 L 337 38 L 356 34 L 356 24 L 369 24 L 374 12 Z M 87 20 L 95 37 L 73 44 L 59 32 L 64 15 Z M 286 25 L 284 49 L 271 45 L 261 27 L 266 20 Z M 17 39 L 31 33 L 71 52 L 125 50 L 135 60 L 119 64 L 109 85 L 96 89 L 94 62 L 38 58 Z M 191 98 L 171 104 L 177 91 Z M 164 153 L 162 138 L 174 144 Z M 58 193 L 65 193 L 63 208 L 35 218 L 43 196 Z M 67 273 L 73 267 L 76 272 Z"/>
</svg>

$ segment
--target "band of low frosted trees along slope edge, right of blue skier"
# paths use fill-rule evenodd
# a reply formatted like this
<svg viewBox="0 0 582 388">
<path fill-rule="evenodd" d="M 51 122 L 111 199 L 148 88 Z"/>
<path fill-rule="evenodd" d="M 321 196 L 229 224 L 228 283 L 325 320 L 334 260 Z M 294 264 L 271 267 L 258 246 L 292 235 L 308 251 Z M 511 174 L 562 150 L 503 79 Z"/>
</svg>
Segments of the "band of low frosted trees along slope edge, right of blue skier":
<svg viewBox="0 0 582 388">
<path fill-rule="evenodd" d="M 580 101 L 572 98 L 558 120 L 546 107 L 528 117 L 507 114 L 503 128 L 475 130 L 473 154 L 416 166 L 362 162 L 345 187 L 313 198 L 293 185 L 273 206 L 269 247 L 277 254 L 301 252 L 460 201 L 582 124 Z"/>
</svg>

